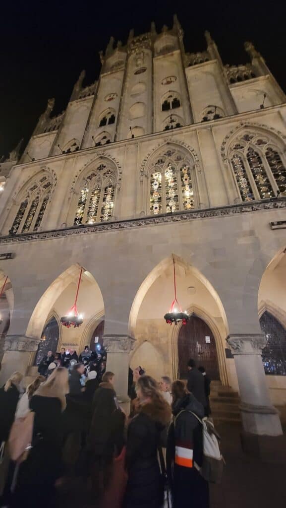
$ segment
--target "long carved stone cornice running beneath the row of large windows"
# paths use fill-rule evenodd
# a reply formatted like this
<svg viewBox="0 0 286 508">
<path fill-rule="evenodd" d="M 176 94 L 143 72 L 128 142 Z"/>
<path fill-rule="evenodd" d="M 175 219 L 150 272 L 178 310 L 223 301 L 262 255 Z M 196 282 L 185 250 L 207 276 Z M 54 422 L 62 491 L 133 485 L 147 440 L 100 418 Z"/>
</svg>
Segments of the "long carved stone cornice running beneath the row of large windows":
<svg viewBox="0 0 286 508">
<path fill-rule="evenodd" d="M 23 233 L 15 236 L 0 237 L 0 245 L 29 242 L 35 240 L 49 240 L 50 238 L 62 238 L 72 235 L 86 235 L 89 233 L 102 233 L 105 231 L 118 231 L 123 229 L 143 228 L 156 225 L 170 225 L 172 223 L 184 222 L 186 220 L 204 219 L 211 217 L 230 217 L 241 213 L 257 212 L 262 210 L 273 210 L 286 208 L 286 198 L 275 200 L 256 201 L 249 204 L 239 203 L 219 208 L 208 208 L 204 210 L 189 210 L 183 212 L 151 215 L 135 219 L 115 220 L 109 223 L 98 223 L 92 226 L 71 226 L 70 228 L 52 231 L 40 231 Z"/>
</svg>

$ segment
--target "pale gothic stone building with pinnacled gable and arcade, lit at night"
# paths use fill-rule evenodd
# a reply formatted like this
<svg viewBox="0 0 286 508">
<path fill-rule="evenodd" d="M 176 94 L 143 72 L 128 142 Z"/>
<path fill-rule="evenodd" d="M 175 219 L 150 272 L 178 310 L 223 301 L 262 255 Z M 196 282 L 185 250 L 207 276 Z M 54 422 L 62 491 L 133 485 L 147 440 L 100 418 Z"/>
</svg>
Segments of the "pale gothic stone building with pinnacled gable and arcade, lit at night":
<svg viewBox="0 0 286 508">
<path fill-rule="evenodd" d="M 246 433 L 281 434 L 286 97 L 245 50 L 246 65 L 224 65 L 207 32 L 188 53 L 176 16 L 111 38 L 98 81 L 83 87 L 83 72 L 59 116 L 49 100 L 2 163 L 2 383 L 47 348 L 99 340 L 124 398 L 129 364 L 184 377 L 192 356 L 239 391 Z M 163 317 L 173 261 L 185 327 Z M 81 267 L 84 322 L 67 329 Z"/>
</svg>

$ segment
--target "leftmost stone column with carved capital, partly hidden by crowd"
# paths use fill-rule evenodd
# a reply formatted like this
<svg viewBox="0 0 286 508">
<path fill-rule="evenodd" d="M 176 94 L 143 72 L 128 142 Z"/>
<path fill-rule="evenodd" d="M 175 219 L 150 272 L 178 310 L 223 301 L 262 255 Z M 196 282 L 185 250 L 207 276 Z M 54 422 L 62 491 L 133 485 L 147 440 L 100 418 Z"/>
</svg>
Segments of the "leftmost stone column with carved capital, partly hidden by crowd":
<svg viewBox="0 0 286 508">
<path fill-rule="evenodd" d="M 7 335 L 3 347 L 4 356 L 0 372 L 0 385 L 5 383 L 8 377 L 16 370 L 23 375 L 37 351 L 39 340 L 26 337 L 25 335 Z"/>
</svg>

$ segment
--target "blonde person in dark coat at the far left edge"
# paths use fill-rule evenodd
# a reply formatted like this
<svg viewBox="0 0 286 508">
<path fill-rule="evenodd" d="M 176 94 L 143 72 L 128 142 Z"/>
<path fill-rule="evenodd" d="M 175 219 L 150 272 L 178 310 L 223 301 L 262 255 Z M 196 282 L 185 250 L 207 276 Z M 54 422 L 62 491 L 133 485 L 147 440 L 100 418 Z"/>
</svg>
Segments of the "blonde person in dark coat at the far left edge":
<svg viewBox="0 0 286 508">
<path fill-rule="evenodd" d="M 7 441 L 9 437 L 19 400 L 19 386 L 22 378 L 20 372 L 14 372 L 0 390 L 0 444 L 2 441 Z"/>
</svg>

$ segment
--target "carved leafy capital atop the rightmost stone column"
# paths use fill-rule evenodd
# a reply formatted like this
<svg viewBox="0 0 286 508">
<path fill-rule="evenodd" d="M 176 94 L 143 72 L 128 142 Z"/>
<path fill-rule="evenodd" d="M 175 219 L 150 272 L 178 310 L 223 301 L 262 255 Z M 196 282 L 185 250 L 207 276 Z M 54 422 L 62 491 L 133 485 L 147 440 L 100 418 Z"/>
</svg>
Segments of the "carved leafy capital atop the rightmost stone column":
<svg viewBox="0 0 286 508">
<path fill-rule="evenodd" d="M 267 344 L 263 333 L 236 333 L 227 337 L 233 355 L 261 355 Z"/>
</svg>

